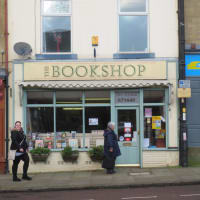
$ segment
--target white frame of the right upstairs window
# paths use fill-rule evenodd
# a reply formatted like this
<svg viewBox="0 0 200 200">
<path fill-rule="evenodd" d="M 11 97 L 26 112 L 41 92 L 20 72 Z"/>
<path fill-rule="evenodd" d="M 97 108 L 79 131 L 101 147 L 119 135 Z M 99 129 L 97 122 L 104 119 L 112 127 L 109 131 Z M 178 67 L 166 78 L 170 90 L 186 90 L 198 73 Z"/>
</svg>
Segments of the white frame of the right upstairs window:
<svg viewBox="0 0 200 200">
<path fill-rule="evenodd" d="M 147 16 L 147 50 L 146 51 L 120 51 L 120 31 L 119 31 L 119 18 L 120 16 Z M 118 0 L 118 52 L 119 53 L 149 53 L 150 48 L 150 34 L 149 34 L 149 0 L 146 0 L 146 11 L 145 12 L 121 12 L 120 11 L 120 0 Z"/>
</svg>

